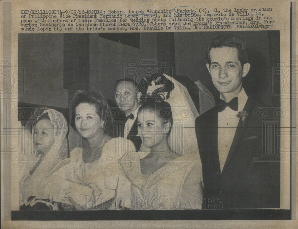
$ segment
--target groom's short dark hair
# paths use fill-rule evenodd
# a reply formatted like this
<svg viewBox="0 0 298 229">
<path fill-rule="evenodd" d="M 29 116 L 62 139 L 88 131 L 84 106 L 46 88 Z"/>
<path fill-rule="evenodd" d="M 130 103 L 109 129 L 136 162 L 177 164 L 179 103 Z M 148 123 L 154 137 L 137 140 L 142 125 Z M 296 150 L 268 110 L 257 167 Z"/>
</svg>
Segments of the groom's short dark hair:
<svg viewBox="0 0 298 229">
<path fill-rule="evenodd" d="M 243 67 L 244 64 L 248 63 L 248 47 L 247 43 L 240 37 L 234 35 L 221 35 L 211 41 L 207 48 L 207 60 L 211 64 L 210 50 L 212 48 L 231 47 L 236 48 L 238 51 L 238 60 Z"/>
</svg>

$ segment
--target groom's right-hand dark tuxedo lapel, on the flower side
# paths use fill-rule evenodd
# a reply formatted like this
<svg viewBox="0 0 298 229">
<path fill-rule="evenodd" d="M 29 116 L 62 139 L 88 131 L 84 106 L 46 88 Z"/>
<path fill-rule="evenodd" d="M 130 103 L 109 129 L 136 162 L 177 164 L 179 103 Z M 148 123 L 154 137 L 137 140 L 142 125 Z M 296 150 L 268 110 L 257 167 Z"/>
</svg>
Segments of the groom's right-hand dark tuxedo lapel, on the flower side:
<svg viewBox="0 0 298 229">
<path fill-rule="evenodd" d="M 243 108 L 243 111 L 249 112 L 249 116 L 252 116 L 252 104 L 253 104 L 253 99 L 251 97 L 249 97 L 246 101 L 244 108 Z M 224 173 L 224 171 L 226 170 L 231 158 L 235 155 L 236 152 L 238 152 L 239 144 L 243 138 L 244 130 L 246 129 L 246 127 L 248 127 L 249 116 L 246 118 L 247 120 L 244 122 L 244 127 L 243 127 L 243 121 L 241 120 L 241 118 L 239 118 L 238 126 L 236 129 L 235 135 L 234 135 L 234 139 L 233 139 L 229 154 L 226 158 L 226 162 L 224 164 L 222 173 Z"/>
</svg>

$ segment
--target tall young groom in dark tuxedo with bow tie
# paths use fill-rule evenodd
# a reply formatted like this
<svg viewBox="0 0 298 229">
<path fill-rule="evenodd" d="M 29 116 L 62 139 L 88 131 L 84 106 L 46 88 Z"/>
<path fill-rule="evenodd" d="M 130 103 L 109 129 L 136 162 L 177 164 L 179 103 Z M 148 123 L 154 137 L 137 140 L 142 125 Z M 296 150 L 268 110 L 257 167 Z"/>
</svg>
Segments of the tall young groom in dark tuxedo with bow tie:
<svg viewBox="0 0 298 229">
<path fill-rule="evenodd" d="M 273 160 L 274 152 L 264 153 L 263 120 L 254 115 L 262 104 L 242 88 L 250 69 L 247 44 L 236 36 L 219 36 L 209 45 L 207 59 L 220 101 L 195 121 L 204 207 L 214 209 L 220 203 L 221 208 L 278 208 L 280 161 Z"/>
</svg>

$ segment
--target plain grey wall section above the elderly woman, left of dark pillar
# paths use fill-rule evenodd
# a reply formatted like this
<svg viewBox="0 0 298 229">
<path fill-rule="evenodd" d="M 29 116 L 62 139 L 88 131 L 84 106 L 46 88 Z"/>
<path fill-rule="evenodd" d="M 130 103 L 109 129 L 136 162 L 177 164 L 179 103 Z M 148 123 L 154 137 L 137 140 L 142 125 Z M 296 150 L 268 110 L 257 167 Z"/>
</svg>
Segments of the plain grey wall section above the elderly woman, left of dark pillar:
<svg viewBox="0 0 298 229">
<path fill-rule="evenodd" d="M 19 102 L 68 107 L 63 87 L 63 34 L 19 34 L 18 65 L 24 69 L 24 79 L 18 83 L 19 91 L 24 85 L 24 95 Z"/>
</svg>

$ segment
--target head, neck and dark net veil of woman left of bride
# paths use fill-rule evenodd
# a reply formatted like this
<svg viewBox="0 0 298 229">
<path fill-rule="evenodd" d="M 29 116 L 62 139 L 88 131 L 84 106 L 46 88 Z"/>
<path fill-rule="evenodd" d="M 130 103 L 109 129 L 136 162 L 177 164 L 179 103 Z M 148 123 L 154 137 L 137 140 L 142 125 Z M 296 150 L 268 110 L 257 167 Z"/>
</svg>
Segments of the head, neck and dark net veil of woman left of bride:
<svg viewBox="0 0 298 229">
<path fill-rule="evenodd" d="M 100 158 L 103 145 L 115 136 L 115 121 L 105 98 L 94 91 L 77 91 L 69 104 L 69 119 L 83 140 L 83 161 Z"/>
</svg>

